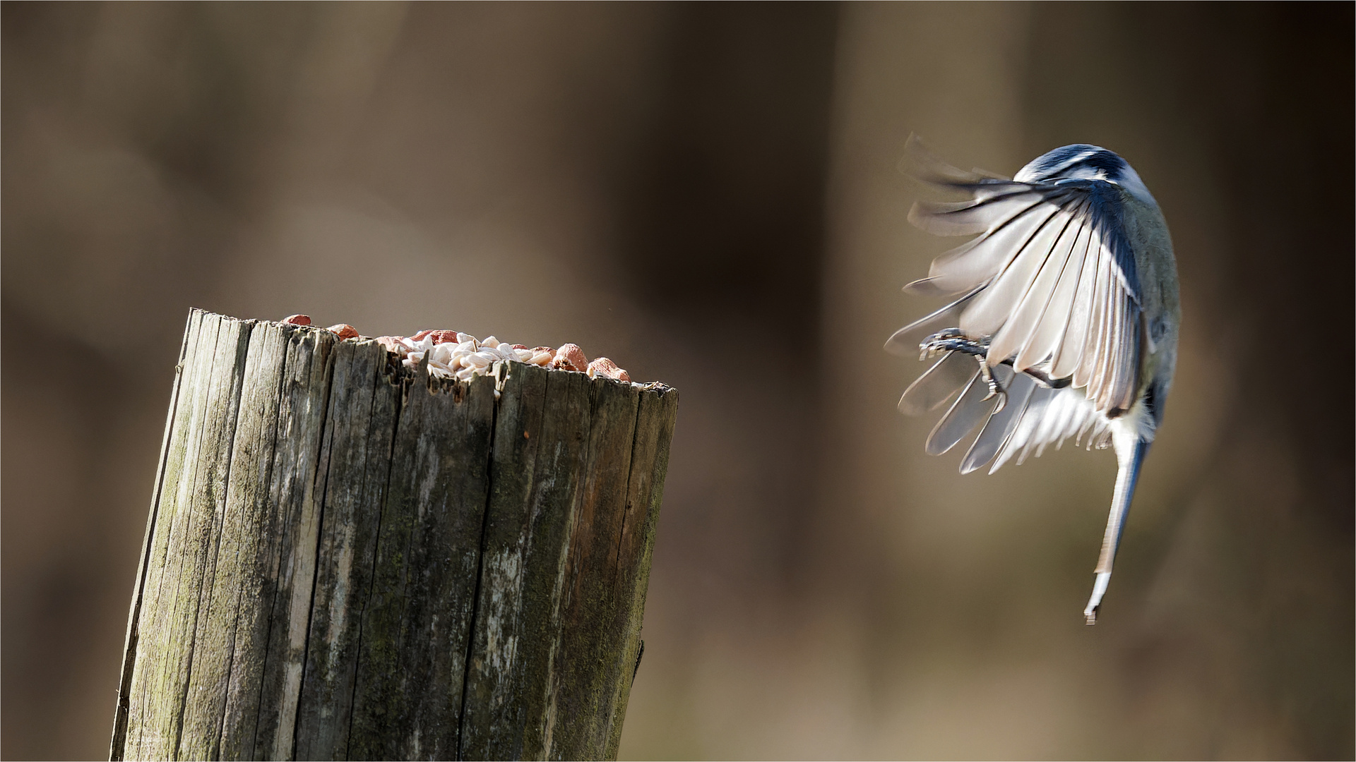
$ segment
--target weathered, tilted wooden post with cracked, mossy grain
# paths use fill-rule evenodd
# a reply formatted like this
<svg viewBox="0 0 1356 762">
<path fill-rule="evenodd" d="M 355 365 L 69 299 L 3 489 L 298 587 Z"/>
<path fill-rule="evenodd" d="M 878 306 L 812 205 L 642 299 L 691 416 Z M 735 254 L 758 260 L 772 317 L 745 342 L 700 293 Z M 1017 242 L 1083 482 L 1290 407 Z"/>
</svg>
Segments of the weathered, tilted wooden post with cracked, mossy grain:
<svg viewBox="0 0 1356 762">
<path fill-rule="evenodd" d="M 677 408 L 193 310 L 110 758 L 616 758 Z"/>
</svg>

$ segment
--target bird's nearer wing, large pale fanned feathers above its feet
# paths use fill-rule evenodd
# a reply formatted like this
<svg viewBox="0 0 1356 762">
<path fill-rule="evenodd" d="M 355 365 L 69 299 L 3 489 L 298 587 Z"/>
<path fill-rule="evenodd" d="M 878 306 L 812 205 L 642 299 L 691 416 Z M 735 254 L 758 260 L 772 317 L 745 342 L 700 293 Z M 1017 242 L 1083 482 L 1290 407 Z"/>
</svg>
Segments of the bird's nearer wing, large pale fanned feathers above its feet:
<svg viewBox="0 0 1356 762">
<path fill-rule="evenodd" d="M 1120 188 L 1106 180 L 1022 183 L 960 172 L 911 149 L 923 179 L 970 194 L 917 203 L 909 218 L 937 235 L 978 236 L 937 258 L 915 293 L 975 292 L 959 327 L 989 336 L 989 363 L 1071 378 L 1112 418 L 1134 404 L 1140 361 L 1135 256 Z"/>
</svg>

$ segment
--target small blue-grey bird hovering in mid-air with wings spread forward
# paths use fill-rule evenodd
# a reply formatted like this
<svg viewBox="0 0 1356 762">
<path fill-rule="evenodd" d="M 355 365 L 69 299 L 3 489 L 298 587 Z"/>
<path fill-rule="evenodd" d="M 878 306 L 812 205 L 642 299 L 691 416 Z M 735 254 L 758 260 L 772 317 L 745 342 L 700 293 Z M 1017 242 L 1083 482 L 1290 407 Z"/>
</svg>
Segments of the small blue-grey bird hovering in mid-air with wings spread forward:
<svg viewBox="0 0 1356 762">
<path fill-rule="evenodd" d="M 917 136 L 913 174 L 957 202 L 915 202 L 909 221 L 975 236 L 904 286 L 948 304 L 887 342 L 934 362 L 899 400 L 948 405 L 926 441 L 941 454 L 980 424 L 960 472 L 1021 464 L 1073 437 L 1115 449 L 1116 487 L 1083 609 L 1097 622 L 1140 466 L 1163 422 L 1181 323 L 1177 260 L 1158 202 L 1131 165 L 1088 144 L 1050 151 L 1010 179 L 948 165 Z"/>
</svg>

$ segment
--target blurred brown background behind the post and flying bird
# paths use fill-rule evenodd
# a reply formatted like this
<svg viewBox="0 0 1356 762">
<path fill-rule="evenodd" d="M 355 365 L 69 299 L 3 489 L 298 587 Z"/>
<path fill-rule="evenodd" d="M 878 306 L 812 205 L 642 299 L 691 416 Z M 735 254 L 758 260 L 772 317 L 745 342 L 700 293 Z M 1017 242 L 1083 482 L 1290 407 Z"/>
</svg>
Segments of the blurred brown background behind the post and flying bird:
<svg viewBox="0 0 1356 762">
<path fill-rule="evenodd" d="M 190 306 L 682 392 L 629 758 L 1353 755 L 1352 4 L 3 5 L 3 747 L 96 758 Z M 910 132 L 1125 156 L 1182 354 L 960 477 L 895 400 Z"/>
</svg>

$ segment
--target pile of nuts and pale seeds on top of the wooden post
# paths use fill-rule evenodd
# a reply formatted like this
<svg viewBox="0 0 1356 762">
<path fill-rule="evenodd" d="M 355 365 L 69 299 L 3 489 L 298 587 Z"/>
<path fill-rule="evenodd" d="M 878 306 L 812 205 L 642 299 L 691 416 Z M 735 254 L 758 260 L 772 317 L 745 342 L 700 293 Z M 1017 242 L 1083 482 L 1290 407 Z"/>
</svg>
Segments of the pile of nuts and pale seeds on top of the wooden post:
<svg viewBox="0 0 1356 762">
<path fill-rule="evenodd" d="M 311 325 L 311 317 L 293 315 L 283 320 L 292 325 Z M 365 339 L 358 329 L 347 323 L 327 328 L 340 339 Z M 617 367 L 613 361 L 599 357 L 593 362 L 584 357 L 579 344 L 563 344 L 560 348 L 510 344 L 494 336 L 477 339 L 458 331 L 419 331 L 414 336 L 377 336 L 388 353 L 400 358 L 400 363 L 414 370 L 426 357 L 428 373 L 439 378 L 469 381 L 475 376 L 487 376 L 496 362 L 525 362 L 559 370 L 578 370 L 590 378 L 603 377 L 616 381 L 631 381 L 631 374 Z"/>
</svg>

